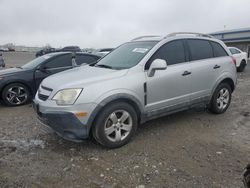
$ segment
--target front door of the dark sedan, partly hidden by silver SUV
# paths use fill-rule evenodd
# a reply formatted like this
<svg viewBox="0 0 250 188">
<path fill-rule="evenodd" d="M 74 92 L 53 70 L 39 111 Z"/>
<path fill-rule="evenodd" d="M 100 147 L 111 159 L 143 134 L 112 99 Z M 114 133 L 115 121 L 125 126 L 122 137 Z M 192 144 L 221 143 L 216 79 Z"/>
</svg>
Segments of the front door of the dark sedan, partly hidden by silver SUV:
<svg viewBox="0 0 250 188">
<path fill-rule="evenodd" d="M 34 74 L 36 88 L 39 87 L 44 78 L 70 68 L 72 68 L 71 54 L 52 57 L 45 64 L 41 65 L 41 69 L 36 70 Z"/>
</svg>

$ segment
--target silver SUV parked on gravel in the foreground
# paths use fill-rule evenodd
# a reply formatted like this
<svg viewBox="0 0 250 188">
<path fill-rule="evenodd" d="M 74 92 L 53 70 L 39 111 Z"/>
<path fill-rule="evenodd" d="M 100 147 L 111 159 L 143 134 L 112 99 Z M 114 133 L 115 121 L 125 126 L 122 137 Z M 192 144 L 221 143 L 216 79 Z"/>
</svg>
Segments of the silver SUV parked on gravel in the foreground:
<svg viewBox="0 0 250 188">
<path fill-rule="evenodd" d="M 230 105 L 235 60 L 209 35 L 174 33 L 127 42 L 92 65 L 46 78 L 34 100 L 39 119 L 65 139 L 90 135 L 120 147 L 137 125 L 196 106 Z"/>
</svg>

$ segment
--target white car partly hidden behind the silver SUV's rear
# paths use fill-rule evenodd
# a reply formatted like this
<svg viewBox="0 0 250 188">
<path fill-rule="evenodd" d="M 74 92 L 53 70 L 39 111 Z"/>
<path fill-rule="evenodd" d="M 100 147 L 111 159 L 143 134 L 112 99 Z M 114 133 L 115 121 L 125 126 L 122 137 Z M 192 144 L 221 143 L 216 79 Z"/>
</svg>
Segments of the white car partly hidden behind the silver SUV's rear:
<svg viewBox="0 0 250 188">
<path fill-rule="evenodd" d="M 243 72 L 247 65 L 247 53 L 242 52 L 240 49 L 235 47 L 228 47 L 233 57 L 236 59 L 236 66 L 238 72 Z"/>
</svg>

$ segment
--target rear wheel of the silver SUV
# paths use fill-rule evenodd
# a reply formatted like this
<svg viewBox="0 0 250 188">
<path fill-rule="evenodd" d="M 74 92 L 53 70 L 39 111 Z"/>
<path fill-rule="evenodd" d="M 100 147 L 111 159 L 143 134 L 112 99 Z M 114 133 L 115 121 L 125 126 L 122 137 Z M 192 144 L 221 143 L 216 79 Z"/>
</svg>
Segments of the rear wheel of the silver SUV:
<svg viewBox="0 0 250 188">
<path fill-rule="evenodd" d="M 209 104 L 209 110 L 215 114 L 224 113 L 231 103 L 231 97 L 232 89 L 230 85 L 221 83 L 213 93 L 213 97 Z"/>
</svg>

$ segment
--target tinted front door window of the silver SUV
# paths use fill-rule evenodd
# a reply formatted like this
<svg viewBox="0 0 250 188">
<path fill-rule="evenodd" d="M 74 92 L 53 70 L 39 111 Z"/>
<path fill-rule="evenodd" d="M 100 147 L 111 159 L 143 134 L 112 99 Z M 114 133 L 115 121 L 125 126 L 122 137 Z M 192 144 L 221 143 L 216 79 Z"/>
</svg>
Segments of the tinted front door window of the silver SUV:
<svg viewBox="0 0 250 188">
<path fill-rule="evenodd" d="M 155 59 L 164 59 L 168 65 L 183 63 L 186 61 L 184 44 L 182 40 L 176 40 L 164 44 L 155 54 L 151 57 L 146 64 L 145 69 L 149 69 L 151 63 Z"/>
</svg>

